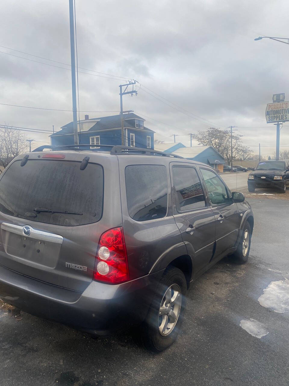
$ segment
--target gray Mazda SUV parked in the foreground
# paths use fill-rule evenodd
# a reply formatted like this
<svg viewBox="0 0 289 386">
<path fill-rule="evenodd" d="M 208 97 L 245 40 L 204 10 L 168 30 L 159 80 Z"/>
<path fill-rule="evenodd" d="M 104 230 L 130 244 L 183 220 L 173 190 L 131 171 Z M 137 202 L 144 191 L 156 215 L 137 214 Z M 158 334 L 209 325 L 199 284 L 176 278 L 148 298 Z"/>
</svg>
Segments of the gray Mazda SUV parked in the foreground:
<svg viewBox="0 0 289 386">
<path fill-rule="evenodd" d="M 206 164 L 135 147 L 18 156 L 0 179 L 0 298 L 94 335 L 137 325 L 172 344 L 190 283 L 229 254 L 247 261 L 242 193 Z"/>
</svg>

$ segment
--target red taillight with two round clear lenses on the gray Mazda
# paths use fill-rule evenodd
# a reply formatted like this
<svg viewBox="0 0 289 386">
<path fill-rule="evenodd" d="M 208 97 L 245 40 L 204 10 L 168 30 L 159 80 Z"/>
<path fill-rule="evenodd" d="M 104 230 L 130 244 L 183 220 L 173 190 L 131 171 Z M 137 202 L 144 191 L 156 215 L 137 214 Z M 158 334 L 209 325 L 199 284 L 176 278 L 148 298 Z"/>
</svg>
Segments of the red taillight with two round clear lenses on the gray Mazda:
<svg viewBox="0 0 289 386">
<path fill-rule="evenodd" d="M 93 278 L 112 284 L 129 280 L 128 256 L 122 227 L 109 229 L 101 235 Z"/>
</svg>

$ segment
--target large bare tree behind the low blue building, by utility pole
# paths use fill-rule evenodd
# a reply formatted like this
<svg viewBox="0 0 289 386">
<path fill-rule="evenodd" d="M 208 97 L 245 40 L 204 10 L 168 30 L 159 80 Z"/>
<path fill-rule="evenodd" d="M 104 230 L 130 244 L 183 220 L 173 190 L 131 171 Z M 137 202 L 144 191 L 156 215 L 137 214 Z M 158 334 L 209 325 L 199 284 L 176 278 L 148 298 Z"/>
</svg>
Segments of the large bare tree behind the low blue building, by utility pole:
<svg viewBox="0 0 289 386">
<path fill-rule="evenodd" d="M 227 131 L 210 127 L 208 130 L 193 134 L 193 138 L 198 141 L 199 145 L 212 146 L 230 163 L 231 135 Z M 251 156 L 252 151 L 248 146 L 242 144 L 242 135 L 233 135 L 232 140 L 233 158 L 247 159 Z"/>
</svg>

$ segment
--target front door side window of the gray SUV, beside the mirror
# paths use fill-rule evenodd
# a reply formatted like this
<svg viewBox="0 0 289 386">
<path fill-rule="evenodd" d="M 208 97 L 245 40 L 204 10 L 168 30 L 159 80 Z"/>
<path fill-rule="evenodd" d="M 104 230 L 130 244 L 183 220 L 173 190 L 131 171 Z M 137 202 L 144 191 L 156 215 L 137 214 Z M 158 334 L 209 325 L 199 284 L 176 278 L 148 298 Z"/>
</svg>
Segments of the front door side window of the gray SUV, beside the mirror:
<svg viewBox="0 0 289 386">
<path fill-rule="evenodd" d="M 201 173 L 203 174 L 212 205 L 232 203 L 225 184 L 215 173 L 202 168 Z"/>
</svg>

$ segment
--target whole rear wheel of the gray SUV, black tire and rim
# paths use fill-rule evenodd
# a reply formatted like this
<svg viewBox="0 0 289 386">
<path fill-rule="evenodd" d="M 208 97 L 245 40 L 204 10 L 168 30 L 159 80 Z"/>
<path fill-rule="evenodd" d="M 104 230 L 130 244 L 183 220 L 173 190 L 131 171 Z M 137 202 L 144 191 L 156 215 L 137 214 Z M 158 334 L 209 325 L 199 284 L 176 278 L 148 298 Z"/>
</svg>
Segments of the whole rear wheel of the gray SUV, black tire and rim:
<svg viewBox="0 0 289 386">
<path fill-rule="evenodd" d="M 171 299 L 169 299 L 170 296 Z M 168 300 L 174 301 L 174 304 L 172 303 L 173 306 L 171 306 L 170 301 L 166 303 Z M 166 268 L 158 283 L 146 319 L 138 329 L 138 342 L 143 347 L 153 352 L 160 352 L 167 349 L 175 342 L 178 336 L 185 313 L 186 303 L 187 281 L 185 275 L 180 269 L 169 266 Z M 160 316 L 161 312 L 165 312 L 166 304 L 168 304 L 167 310 L 176 313 L 176 321 L 167 315 L 167 313 Z M 168 320 L 168 323 L 166 320 Z M 169 331 L 169 326 L 172 328 L 171 331 Z"/>
</svg>

